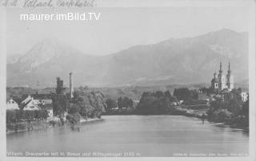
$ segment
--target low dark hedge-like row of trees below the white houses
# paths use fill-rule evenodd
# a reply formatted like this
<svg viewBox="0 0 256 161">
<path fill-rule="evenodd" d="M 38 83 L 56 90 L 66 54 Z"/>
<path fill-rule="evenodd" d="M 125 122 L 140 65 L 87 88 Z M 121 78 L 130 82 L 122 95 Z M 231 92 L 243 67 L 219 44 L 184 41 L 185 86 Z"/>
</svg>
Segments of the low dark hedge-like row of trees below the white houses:
<svg viewBox="0 0 256 161">
<path fill-rule="evenodd" d="M 6 123 L 16 123 L 21 120 L 46 120 L 47 117 L 47 110 L 24 111 L 18 109 L 6 111 Z"/>
</svg>

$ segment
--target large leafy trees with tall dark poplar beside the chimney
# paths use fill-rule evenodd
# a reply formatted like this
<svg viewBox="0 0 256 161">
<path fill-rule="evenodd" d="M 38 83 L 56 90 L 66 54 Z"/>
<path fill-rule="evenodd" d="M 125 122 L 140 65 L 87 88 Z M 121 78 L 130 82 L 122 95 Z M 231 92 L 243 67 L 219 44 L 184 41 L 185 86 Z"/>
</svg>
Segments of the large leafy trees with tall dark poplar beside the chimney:
<svg viewBox="0 0 256 161">
<path fill-rule="evenodd" d="M 59 116 L 61 119 L 65 112 L 68 112 L 66 119 L 77 120 L 78 116 L 85 117 L 101 117 L 102 112 L 105 112 L 106 97 L 102 92 L 92 91 L 89 88 L 78 88 L 73 92 L 73 98 L 65 94 L 63 81 L 57 78 L 56 93 L 53 94 L 54 116 Z M 79 117 L 80 118 L 80 117 Z"/>
</svg>

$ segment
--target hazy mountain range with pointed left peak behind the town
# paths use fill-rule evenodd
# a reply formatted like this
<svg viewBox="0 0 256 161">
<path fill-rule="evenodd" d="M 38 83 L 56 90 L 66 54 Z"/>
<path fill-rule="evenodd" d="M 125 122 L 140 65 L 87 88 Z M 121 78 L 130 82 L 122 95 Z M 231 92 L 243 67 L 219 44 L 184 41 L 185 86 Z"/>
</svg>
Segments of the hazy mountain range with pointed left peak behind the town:
<svg viewBox="0 0 256 161">
<path fill-rule="evenodd" d="M 106 56 L 91 56 L 53 39 L 39 41 L 18 58 L 7 57 L 7 86 L 210 84 L 219 63 L 226 74 L 230 61 L 234 81 L 248 80 L 248 33 L 230 29 L 136 45 Z"/>
</svg>

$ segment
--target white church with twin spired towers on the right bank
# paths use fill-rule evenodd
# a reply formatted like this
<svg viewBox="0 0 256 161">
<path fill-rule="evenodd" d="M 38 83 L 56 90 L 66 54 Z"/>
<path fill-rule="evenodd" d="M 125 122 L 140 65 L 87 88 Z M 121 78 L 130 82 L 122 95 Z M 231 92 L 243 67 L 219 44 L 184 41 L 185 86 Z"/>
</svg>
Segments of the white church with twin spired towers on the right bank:
<svg viewBox="0 0 256 161">
<path fill-rule="evenodd" d="M 234 89 L 234 77 L 231 75 L 230 62 L 226 76 L 222 71 L 222 62 L 220 62 L 219 73 L 214 73 L 214 78 L 211 80 L 211 88 L 218 91 L 222 91 L 223 89 L 231 91 Z"/>
</svg>

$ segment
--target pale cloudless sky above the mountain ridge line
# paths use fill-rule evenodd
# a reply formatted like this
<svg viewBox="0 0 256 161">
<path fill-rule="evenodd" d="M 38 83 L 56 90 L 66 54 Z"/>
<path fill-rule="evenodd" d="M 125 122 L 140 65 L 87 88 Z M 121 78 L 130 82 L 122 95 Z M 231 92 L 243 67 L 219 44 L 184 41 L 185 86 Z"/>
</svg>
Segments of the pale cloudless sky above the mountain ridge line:
<svg viewBox="0 0 256 161">
<path fill-rule="evenodd" d="M 101 13 L 92 22 L 22 22 L 19 14 Z M 82 53 L 101 56 L 133 45 L 169 38 L 194 37 L 218 29 L 248 31 L 246 6 L 98 7 L 6 12 L 7 55 L 24 54 L 45 38 L 54 38 Z"/>
</svg>

